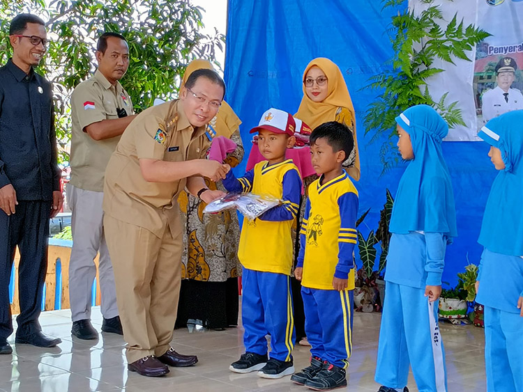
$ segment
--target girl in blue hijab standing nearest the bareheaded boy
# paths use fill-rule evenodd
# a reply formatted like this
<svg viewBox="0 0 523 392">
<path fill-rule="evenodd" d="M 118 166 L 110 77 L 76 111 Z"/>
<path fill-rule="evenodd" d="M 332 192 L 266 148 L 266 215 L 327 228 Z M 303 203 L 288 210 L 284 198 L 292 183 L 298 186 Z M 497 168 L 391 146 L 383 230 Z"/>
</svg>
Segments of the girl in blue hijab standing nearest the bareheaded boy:
<svg viewBox="0 0 523 392">
<path fill-rule="evenodd" d="M 454 195 L 441 139 L 448 125 L 416 105 L 397 116 L 402 175 L 389 230 L 376 375 L 379 392 L 408 391 L 409 365 L 419 391 L 446 391 L 438 299 L 446 246 L 457 235 Z"/>
</svg>

